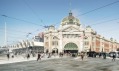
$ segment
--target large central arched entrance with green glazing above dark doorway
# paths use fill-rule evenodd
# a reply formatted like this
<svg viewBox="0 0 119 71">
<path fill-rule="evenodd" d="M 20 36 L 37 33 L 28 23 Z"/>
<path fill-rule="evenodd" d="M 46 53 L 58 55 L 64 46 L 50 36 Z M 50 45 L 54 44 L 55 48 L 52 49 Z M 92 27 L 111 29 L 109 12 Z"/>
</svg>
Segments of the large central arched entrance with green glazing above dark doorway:
<svg viewBox="0 0 119 71">
<path fill-rule="evenodd" d="M 64 53 L 78 53 L 78 46 L 75 43 L 67 43 L 64 46 Z"/>
</svg>

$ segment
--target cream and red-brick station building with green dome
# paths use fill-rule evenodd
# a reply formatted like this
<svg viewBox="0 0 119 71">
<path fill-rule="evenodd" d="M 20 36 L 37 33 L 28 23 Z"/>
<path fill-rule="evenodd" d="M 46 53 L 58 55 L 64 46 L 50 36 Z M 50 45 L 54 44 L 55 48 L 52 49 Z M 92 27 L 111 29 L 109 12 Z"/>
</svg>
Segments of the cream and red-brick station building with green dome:
<svg viewBox="0 0 119 71">
<path fill-rule="evenodd" d="M 90 26 L 83 28 L 71 12 L 61 21 L 58 29 L 51 25 L 44 32 L 45 52 L 110 52 L 117 48 L 119 43 L 113 39 L 105 39 Z"/>
</svg>

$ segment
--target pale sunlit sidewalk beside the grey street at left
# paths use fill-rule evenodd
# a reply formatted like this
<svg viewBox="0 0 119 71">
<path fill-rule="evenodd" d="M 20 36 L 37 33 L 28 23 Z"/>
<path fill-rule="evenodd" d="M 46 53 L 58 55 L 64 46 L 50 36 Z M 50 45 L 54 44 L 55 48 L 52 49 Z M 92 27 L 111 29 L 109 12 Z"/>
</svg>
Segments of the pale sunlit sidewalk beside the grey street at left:
<svg viewBox="0 0 119 71">
<path fill-rule="evenodd" d="M 45 56 L 45 57 L 41 58 L 41 60 L 48 60 L 48 59 L 55 59 L 55 58 L 59 58 L 59 56 L 52 56 L 51 58 L 47 58 L 47 56 Z M 33 61 L 33 60 L 37 60 L 37 57 L 31 57 L 31 58 L 27 59 L 22 56 L 19 56 L 19 57 L 10 58 L 9 60 L 6 57 L 6 58 L 0 58 L 0 64 Z"/>
</svg>

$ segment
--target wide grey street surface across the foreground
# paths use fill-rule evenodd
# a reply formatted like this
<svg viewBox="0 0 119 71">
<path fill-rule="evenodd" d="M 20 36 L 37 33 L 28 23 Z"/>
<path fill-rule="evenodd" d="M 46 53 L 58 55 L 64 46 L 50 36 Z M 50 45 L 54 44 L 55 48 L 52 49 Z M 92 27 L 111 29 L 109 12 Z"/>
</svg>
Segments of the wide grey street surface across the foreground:
<svg viewBox="0 0 119 71">
<path fill-rule="evenodd" d="M 1 64 L 0 71 L 119 71 L 119 61 L 102 58 L 63 57 Z"/>
</svg>

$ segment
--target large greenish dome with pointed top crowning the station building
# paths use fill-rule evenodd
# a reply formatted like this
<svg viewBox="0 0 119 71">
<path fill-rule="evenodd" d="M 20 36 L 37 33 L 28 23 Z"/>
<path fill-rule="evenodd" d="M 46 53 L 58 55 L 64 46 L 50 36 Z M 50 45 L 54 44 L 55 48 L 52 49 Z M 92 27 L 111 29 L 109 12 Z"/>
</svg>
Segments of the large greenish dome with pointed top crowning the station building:
<svg viewBox="0 0 119 71">
<path fill-rule="evenodd" d="M 61 22 L 61 25 L 64 26 L 64 25 L 78 25 L 80 26 L 80 23 L 79 23 L 79 19 L 74 17 L 72 15 L 72 13 L 70 12 L 69 13 L 69 16 L 65 17 L 62 22 Z"/>
</svg>

